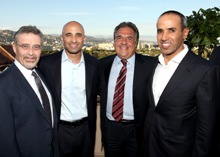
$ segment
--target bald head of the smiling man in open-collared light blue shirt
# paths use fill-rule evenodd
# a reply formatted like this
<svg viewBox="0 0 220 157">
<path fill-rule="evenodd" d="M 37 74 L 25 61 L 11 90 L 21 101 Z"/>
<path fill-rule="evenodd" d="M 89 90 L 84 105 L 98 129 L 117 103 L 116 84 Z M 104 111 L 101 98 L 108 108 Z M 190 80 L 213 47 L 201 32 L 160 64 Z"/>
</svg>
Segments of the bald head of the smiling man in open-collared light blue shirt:
<svg viewBox="0 0 220 157">
<path fill-rule="evenodd" d="M 81 52 L 85 38 L 84 29 L 78 22 L 72 21 L 63 27 L 61 40 L 67 53 Z"/>
</svg>

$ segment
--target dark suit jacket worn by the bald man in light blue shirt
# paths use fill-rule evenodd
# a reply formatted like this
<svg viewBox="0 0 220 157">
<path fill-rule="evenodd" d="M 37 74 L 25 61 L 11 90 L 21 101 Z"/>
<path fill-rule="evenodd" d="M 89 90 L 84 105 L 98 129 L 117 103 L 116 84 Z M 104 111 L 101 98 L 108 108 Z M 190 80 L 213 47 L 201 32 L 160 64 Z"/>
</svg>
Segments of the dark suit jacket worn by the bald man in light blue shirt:
<svg viewBox="0 0 220 157">
<path fill-rule="evenodd" d="M 91 148 L 94 150 L 96 132 L 96 106 L 99 82 L 99 61 L 83 53 L 86 72 L 86 98 L 88 111 L 88 125 L 90 131 Z M 61 109 L 61 56 L 62 51 L 43 56 L 39 62 L 39 69 L 45 76 L 55 98 L 57 115 L 60 117 Z M 73 78 L 74 79 L 74 78 Z"/>
</svg>

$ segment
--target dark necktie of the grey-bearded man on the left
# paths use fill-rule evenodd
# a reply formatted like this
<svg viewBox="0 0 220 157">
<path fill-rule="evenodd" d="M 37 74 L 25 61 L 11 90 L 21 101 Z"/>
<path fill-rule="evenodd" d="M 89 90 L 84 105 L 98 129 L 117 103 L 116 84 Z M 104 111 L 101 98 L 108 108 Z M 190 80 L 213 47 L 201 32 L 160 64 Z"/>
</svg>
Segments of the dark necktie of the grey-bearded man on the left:
<svg viewBox="0 0 220 157">
<path fill-rule="evenodd" d="M 41 82 L 39 76 L 34 71 L 32 72 L 32 76 L 34 77 L 35 83 L 36 83 L 38 91 L 40 93 L 44 111 L 46 112 L 46 115 L 51 123 L 50 102 L 49 102 L 49 98 L 47 96 L 47 93 L 44 89 L 44 86 L 42 85 L 42 82 Z"/>
</svg>

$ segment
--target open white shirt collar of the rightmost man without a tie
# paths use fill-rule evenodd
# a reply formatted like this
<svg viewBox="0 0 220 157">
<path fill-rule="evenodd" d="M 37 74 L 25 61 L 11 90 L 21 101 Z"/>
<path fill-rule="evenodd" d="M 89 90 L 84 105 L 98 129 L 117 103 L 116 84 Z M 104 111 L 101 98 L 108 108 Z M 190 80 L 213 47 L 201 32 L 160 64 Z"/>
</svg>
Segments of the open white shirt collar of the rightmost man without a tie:
<svg viewBox="0 0 220 157">
<path fill-rule="evenodd" d="M 178 53 L 176 56 L 174 56 L 170 61 L 180 64 L 180 62 L 182 61 L 182 59 L 185 57 L 185 55 L 187 54 L 187 52 L 189 50 L 189 48 L 186 44 L 184 44 L 183 46 L 184 46 L 184 49 L 180 53 Z M 164 57 L 162 54 L 159 55 L 159 62 L 162 65 L 165 65 Z"/>
</svg>

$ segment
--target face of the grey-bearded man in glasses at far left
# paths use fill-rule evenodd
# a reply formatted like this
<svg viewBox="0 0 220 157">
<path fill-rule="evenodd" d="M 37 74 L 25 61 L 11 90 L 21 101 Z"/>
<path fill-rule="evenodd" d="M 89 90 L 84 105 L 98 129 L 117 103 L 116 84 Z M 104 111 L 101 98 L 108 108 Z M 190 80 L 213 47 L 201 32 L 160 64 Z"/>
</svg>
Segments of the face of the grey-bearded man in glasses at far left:
<svg viewBox="0 0 220 157">
<path fill-rule="evenodd" d="M 12 44 L 15 59 L 27 69 L 33 69 L 41 55 L 41 38 L 33 33 L 18 35 L 16 43 Z"/>
</svg>

